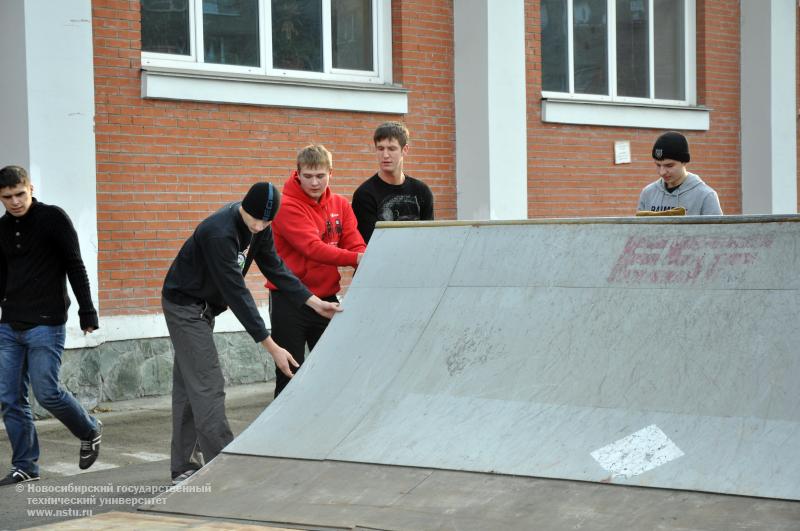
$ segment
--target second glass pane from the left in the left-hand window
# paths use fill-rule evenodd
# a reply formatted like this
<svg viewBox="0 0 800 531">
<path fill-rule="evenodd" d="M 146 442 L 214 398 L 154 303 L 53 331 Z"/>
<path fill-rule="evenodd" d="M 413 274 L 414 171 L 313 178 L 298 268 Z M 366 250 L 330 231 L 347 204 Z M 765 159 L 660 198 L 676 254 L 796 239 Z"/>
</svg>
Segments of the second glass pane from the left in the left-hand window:
<svg viewBox="0 0 800 531">
<path fill-rule="evenodd" d="M 258 0 L 203 0 L 206 63 L 258 66 Z"/>
</svg>

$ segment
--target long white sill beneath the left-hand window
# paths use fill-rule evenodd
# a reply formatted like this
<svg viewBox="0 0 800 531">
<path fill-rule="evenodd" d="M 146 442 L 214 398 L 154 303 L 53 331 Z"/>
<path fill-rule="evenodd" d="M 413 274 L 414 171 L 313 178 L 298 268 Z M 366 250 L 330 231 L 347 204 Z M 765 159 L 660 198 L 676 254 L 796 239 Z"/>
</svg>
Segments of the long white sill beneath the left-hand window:
<svg viewBox="0 0 800 531">
<path fill-rule="evenodd" d="M 390 114 L 408 112 L 408 91 L 397 85 L 209 75 L 160 68 L 142 70 L 142 97 Z"/>
</svg>

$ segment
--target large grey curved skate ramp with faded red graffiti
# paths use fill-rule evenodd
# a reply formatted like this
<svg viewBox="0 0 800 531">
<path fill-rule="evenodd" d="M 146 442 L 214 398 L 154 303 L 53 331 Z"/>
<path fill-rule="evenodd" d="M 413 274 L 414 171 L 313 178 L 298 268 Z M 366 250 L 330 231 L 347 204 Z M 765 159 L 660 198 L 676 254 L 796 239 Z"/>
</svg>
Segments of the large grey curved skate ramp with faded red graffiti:
<svg viewBox="0 0 800 531">
<path fill-rule="evenodd" d="M 311 529 L 797 531 L 797 221 L 381 228 L 298 376 L 144 508 Z"/>
</svg>

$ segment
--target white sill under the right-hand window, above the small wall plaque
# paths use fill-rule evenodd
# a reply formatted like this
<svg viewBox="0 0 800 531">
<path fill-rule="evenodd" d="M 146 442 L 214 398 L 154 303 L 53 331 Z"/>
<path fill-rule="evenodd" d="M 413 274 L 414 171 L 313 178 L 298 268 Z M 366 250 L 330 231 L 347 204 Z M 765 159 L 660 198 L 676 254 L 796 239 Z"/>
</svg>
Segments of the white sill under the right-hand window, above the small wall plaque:
<svg viewBox="0 0 800 531">
<path fill-rule="evenodd" d="M 711 110 L 706 107 L 650 106 L 551 98 L 542 100 L 542 121 L 561 124 L 708 131 L 711 126 Z"/>
</svg>

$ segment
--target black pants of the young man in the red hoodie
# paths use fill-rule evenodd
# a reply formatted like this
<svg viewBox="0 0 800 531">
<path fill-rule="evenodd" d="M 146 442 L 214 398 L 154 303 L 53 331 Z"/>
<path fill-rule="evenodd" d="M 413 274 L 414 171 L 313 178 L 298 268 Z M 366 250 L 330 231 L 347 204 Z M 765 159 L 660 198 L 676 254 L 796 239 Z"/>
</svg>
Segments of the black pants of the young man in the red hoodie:
<svg viewBox="0 0 800 531">
<path fill-rule="evenodd" d="M 338 302 L 336 295 L 322 297 L 322 300 Z M 298 308 L 280 291 L 269 292 L 269 319 L 272 323 L 272 339 L 288 350 L 301 365 L 305 360 L 306 344 L 310 352 L 330 322 L 330 319 L 326 319 L 306 305 Z M 275 368 L 275 396 L 278 396 L 288 383 L 289 378 Z"/>
</svg>

